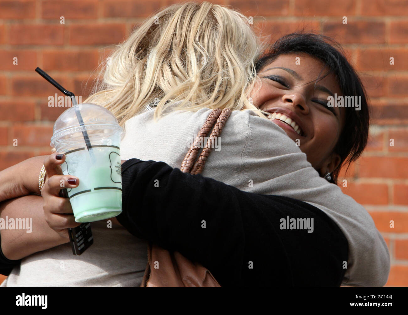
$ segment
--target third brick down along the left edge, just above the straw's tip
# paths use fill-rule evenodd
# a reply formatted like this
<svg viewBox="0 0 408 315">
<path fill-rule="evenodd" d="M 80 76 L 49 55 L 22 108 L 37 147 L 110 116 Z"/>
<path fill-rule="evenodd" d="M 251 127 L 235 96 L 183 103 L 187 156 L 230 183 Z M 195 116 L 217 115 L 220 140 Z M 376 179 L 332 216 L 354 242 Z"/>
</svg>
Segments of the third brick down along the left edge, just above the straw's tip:
<svg viewBox="0 0 408 315">
<path fill-rule="evenodd" d="M 17 57 L 17 64 L 13 64 Z M 33 50 L 0 50 L 0 70 L 33 70 L 37 67 L 37 52 Z"/>
</svg>

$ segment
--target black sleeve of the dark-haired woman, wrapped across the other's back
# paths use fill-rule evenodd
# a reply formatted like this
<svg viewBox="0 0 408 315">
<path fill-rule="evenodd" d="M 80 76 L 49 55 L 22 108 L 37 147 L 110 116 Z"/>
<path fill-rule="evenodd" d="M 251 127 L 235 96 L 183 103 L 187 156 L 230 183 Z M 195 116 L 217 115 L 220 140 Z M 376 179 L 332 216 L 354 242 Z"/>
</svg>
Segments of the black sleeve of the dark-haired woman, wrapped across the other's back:
<svg viewBox="0 0 408 315">
<path fill-rule="evenodd" d="M 305 202 L 138 159 L 122 164 L 122 189 L 120 224 L 199 262 L 221 286 L 340 286 L 346 272 L 346 237 Z M 313 232 L 283 223 L 297 218 L 313 220 Z"/>
</svg>

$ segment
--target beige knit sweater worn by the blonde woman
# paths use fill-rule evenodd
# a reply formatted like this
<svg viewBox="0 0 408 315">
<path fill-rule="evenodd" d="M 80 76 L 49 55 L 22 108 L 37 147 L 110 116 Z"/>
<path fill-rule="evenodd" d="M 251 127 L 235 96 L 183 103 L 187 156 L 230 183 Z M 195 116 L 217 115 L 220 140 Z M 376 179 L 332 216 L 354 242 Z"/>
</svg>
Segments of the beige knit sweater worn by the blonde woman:
<svg viewBox="0 0 408 315">
<path fill-rule="evenodd" d="M 134 116 L 125 124 L 121 158 L 164 161 L 180 167 L 210 112 L 177 111 L 157 123 L 153 111 Z M 372 218 L 338 186 L 319 177 L 283 129 L 251 111 L 233 111 L 218 147 L 219 151 L 210 154 L 203 176 L 244 191 L 292 197 L 321 209 L 348 240 L 343 284 L 384 286 L 390 257 Z M 106 228 L 106 223 L 98 222 L 92 228 L 94 244 L 81 256 L 73 256 L 68 244 L 35 253 L 23 259 L 2 286 L 139 285 L 146 265 L 146 243 L 121 227 Z M 69 272 L 61 270 L 62 262 Z"/>
</svg>

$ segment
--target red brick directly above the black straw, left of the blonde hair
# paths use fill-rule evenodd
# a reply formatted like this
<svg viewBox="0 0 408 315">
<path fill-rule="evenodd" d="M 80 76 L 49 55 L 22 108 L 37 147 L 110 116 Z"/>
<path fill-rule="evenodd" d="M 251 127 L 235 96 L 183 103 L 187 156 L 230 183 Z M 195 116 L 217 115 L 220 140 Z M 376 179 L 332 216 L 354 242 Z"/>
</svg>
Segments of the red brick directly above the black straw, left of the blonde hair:
<svg viewBox="0 0 408 315">
<path fill-rule="evenodd" d="M 98 67 L 98 51 L 52 50 L 42 52 L 44 69 L 86 71 Z"/>
</svg>

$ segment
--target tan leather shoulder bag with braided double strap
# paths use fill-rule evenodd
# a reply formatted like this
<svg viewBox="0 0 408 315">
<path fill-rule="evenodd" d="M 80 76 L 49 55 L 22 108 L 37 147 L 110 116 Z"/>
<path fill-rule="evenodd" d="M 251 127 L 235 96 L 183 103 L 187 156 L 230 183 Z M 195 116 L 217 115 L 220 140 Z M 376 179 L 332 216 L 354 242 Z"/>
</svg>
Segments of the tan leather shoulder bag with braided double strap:
<svg viewBox="0 0 408 315">
<path fill-rule="evenodd" d="M 184 157 L 180 170 L 184 173 L 200 174 L 204 168 L 204 164 L 211 152 L 215 138 L 217 138 L 228 117 L 231 115 L 231 110 L 215 109 L 207 118 L 200 132 L 195 139 L 195 142 L 188 150 Z M 202 138 L 207 137 L 211 132 L 206 146 L 202 150 L 197 161 L 197 153 L 200 147 L 198 143 L 202 143 Z M 179 252 L 173 253 L 166 249 L 149 242 L 147 247 L 148 262 L 141 287 L 158 287 L 158 286 L 217 286 L 220 284 L 215 280 L 211 272 L 197 262 L 191 262 Z M 159 268 L 155 267 L 155 262 L 158 262 Z M 153 268 L 151 268 L 151 266 Z"/>
</svg>

